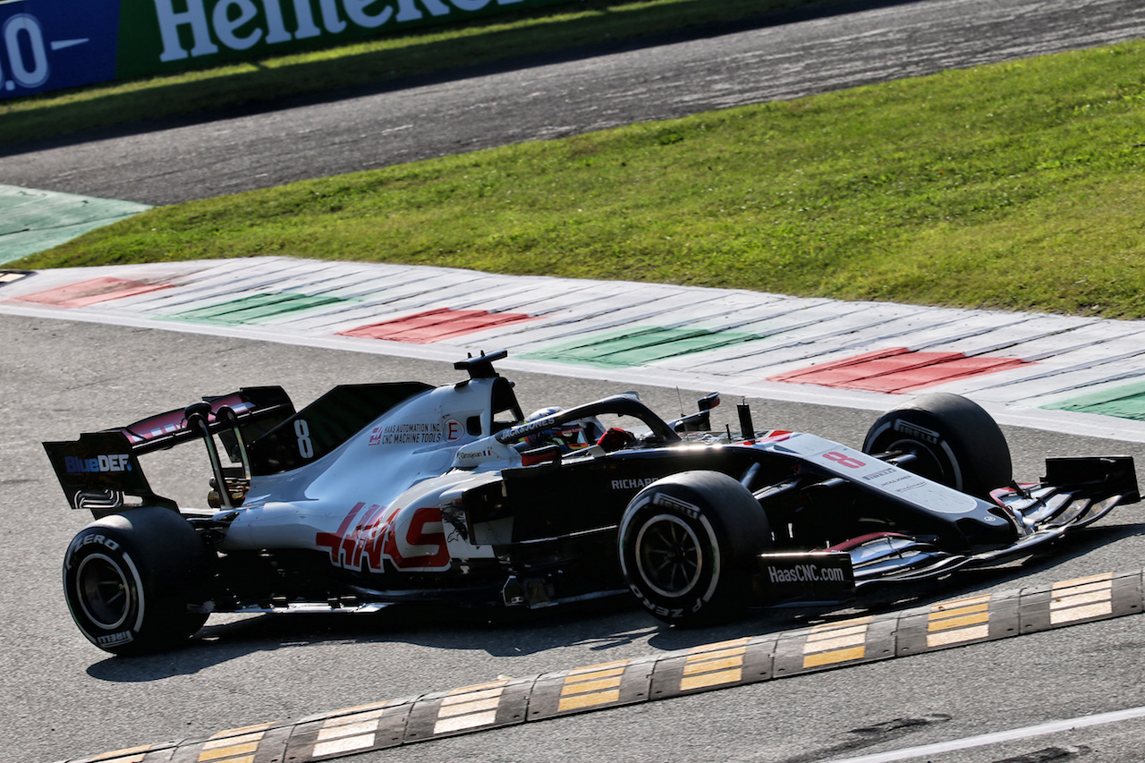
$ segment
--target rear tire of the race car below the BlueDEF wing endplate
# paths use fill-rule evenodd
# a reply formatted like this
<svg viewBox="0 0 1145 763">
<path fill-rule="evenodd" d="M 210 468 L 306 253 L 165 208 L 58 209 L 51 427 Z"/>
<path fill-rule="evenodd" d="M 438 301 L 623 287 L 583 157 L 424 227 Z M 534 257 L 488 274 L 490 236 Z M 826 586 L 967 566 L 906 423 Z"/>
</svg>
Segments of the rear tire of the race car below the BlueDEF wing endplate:
<svg viewBox="0 0 1145 763">
<path fill-rule="evenodd" d="M 64 556 L 64 597 L 112 654 L 177 646 L 203 627 L 214 554 L 179 513 L 147 506 L 92 522 Z"/>
</svg>

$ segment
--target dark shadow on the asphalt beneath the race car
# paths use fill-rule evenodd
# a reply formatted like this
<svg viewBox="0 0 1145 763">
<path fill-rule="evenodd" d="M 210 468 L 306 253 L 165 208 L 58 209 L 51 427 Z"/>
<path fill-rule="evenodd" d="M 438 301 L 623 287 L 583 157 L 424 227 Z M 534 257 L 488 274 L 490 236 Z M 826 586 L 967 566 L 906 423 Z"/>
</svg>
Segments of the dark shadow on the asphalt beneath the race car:
<svg viewBox="0 0 1145 763">
<path fill-rule="evenodd" d="M 92 664 L 93 678 L 150 682 L 200 670 L 259 652 L 299 650 L 317 644 L 412 644 L 436 650 L 480 651 L 519 658 L 555 647 L 577 646 L 606 662 L 631 655 L 631 645 L 653 652 L 686 650 L 724 640 L 779 634 L 864 615 L 882 615 L 986 591 L 1032 585 L 1068 561 L 1131 537 L 1145 537 L 1145 525 L 1091 527 L 1063 538 L 1051 552 L 988 569 L 963 571 L 946 580 L 863 589 L 846 606 L 759 609 L 725 626 L 681 629 L 658 623 L 627 596 L 540 611 L 474 612 L 443 605 L 395 605 L 371 614 L 292 614 L 232 618 L 207 624 L 187 646 L 155 655 L 114 658 Z M 1129 572 L 1092 569 L 1093 573 Z M 1075 575 L 1063 574 L 1063 579 Z M 1012 584 L 1012 585 L 1011 585 Z M 595 658 L 599 656 L 599 660 Z M 554 664 L 552 669 L 568 666 Z"/>
</svg>

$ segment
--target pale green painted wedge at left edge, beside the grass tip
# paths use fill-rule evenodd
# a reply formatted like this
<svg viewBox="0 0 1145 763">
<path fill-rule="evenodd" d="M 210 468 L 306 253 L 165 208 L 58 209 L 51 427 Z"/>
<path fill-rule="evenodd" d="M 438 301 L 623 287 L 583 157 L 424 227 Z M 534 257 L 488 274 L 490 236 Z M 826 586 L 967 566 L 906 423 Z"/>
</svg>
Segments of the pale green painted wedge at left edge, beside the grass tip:
<svg viewBox="0 0 1145 763">
<path fill-rule="evenodd" d="M 134 202 L 0 186 L 0 263 L 42 252 L 149 209 Z"/>
</svg>

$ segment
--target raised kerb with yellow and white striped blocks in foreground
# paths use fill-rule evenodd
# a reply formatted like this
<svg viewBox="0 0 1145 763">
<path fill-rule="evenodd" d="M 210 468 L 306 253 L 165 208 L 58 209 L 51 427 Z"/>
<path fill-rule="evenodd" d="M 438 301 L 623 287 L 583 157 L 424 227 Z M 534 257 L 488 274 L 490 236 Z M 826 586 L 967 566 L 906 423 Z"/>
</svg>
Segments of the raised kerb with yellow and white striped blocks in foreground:
<svg viewBox="0 0 1145 763">
<path fill-rule="evenodd" d="M 203 741 L 109 753 L 72 763 L 305 763 L 482 732 L 789 675 L 963 647 L 1138 614 L 1143 572 L 1101 574 L 969 596 L 902 612 L 703 644 L 645 658 L 496 681 L 338 710 L 298 723 L 232 729 Z"/>
</svg>

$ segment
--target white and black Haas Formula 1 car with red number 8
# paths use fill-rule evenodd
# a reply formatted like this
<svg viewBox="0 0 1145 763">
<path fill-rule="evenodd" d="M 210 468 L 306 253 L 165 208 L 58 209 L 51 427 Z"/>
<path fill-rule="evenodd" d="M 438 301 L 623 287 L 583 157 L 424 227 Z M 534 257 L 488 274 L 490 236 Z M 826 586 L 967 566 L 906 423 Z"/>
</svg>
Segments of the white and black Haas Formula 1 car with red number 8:
<svg viewBox="0 0 1145 763">
<path fill-rule="evenodd" d="M 883 415 L 856 450 L 757 432 L 743 404 L 739 434 L 705 431 L 718 394 L 672 423 L 634 393 L 527 418 L 503 357 L 458 362 L 468 378 L 445 386 L 339 386 L 301 410 L 243 388 L 46 442 L 69 503 L 95 517 L 64 558 L 76 623 L 134 654 L 212 612 L 631 591 L 703 626 L 1027 556 L 1139 501 L 1126 456 L 1050 458 L 1039 483 L 1013 482 L 1001 430 L 957 395 Z M 212 471 L 202 509 L 153 493 L 140 465 L 194 440 Z"/>
</svg>

